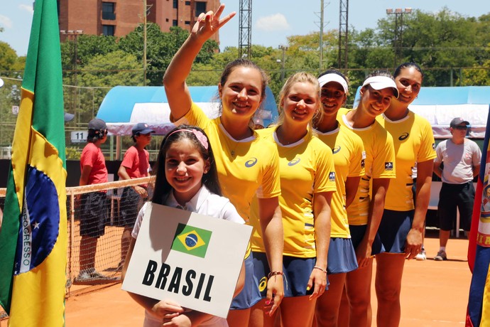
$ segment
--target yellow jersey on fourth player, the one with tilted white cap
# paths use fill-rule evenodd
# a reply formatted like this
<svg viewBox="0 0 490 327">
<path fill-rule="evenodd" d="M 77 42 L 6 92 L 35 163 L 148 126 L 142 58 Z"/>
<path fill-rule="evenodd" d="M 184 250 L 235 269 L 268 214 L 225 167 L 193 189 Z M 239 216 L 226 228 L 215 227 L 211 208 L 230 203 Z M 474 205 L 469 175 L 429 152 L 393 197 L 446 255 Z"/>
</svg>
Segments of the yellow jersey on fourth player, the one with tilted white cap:
<svg viewBox="0 0 490 327">
<path fill-rule="evenodd" d="M 361 137 L 364 143 L 364 151 L 366 151 L 366 160 L 364 161 L 366 174 L 361 177 L 356 198 L 347 208 L 347 217 L 350 225 L 366 225 L 371 202 L 371 178 L 396 177 L 393 137 L 376 120 L 369 127 L 352 128 L 345 117 L 347 112 L 349 112 L 349 109 L 341 108 L 337 113 L 337 120 L 342 126 L 351 129 L 352 132 Z"/>
</svg>

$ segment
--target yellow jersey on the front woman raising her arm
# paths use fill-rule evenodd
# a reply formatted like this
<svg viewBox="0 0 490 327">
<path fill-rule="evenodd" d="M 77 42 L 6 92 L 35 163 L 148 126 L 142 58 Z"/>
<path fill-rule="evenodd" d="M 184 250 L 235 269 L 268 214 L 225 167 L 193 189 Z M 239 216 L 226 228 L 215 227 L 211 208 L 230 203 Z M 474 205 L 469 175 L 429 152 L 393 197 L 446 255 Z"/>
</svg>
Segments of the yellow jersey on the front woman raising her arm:
<svg viewBox="0 0 490 327">
<path fill-rule="evenodd" d="M 229 198 L 241 218 L 249 223 L 250 204 L 260 188 L 259 198 L 281 194 L 278 151 L 271 142 L 254 133 L 248 139 L 236 141 L 222 127 L 218 118 L 209 119 L 197 104 L 178 124 L 187 123 L 202 128 L 209 137 L 223 196 Z"/>
</svg>

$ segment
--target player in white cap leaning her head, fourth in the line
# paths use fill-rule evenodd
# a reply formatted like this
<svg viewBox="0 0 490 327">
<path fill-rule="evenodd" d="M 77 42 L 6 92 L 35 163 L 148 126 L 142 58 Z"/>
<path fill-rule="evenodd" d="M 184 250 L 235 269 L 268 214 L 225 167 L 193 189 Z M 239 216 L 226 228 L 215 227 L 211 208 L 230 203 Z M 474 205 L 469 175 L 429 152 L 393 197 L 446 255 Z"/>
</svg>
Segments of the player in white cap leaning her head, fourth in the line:
<svg viewBox="0 0 490 327">
<path fill-rule="evenodd" d="M 359 106 L 340 109 L 337 117 L 342 126 L 351 129 L 364 142 L 366 175 L 351 205 L 347 208 L 352 243 L 356 249 L 359 269 L 347 273 L 339 326 L 371 326 L 371 274 L 373 257 L 383 252 L 377 235 L 384 200 L 391 178 L 395 177 L 393 138 L 376 117 L 388 109 L 398 90 L 388 71 L 376 71 L 364 80 Z M 346 308 L 347 306 L 347 308 Z"/>
</svg>

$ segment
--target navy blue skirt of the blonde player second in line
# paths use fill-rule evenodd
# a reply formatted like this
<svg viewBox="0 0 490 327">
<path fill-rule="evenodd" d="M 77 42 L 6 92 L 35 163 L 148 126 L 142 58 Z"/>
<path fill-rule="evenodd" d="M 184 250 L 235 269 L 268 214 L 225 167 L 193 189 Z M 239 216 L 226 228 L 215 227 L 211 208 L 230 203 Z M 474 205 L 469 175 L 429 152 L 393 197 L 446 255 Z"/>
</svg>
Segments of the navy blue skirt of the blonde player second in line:
<svg viewBox="0 0 490 327">
<path fill-rule="evenodd" d="M 297 258 L 283 256 L 283 283 L 284 283 L 284 296 L 304 296 L 313 293 L 313 288 L 310 291 L 306 290 L 308 280 L 315 267 L 316 258 Z M 269 269 L 267 256 L 263 252 L 254 252 L 254 274 L 259 282 L 259 289 L 261 290 L 261 296 L 263 299 L 267 295 L 267 275 L 271 272 Z M 274 278 L 274 277 L 271 277 Z M 328 289 L 327 286 L 325 290 Z"/>
</svg>

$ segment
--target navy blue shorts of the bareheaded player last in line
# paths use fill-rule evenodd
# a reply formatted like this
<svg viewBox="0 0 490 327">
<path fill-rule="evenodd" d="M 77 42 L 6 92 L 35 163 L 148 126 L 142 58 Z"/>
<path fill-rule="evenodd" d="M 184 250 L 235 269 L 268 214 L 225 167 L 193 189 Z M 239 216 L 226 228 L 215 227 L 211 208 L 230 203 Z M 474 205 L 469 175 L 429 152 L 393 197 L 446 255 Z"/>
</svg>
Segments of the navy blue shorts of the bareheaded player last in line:
<svg viewBox="0 0 490 327">
<path fill-rule="evenodd" d="M 384 210 L 378 234 L 388 253 L 404 253 L 405 241 L 412 228 L 414 210 Z"/>
</svg>

